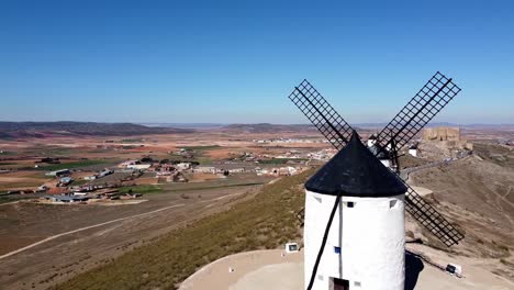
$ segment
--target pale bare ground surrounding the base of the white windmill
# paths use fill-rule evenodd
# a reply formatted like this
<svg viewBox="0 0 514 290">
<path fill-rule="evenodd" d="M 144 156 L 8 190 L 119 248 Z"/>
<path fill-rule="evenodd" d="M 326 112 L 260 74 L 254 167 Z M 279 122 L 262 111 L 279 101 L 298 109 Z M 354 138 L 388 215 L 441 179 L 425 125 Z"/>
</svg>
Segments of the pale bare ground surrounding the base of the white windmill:
<svg viewBox="0 0 514 290">
<path fill-rule="evenodd" d="M 455 258 L 426 246 L 409 245 L 410 250 L 426 253 L 429 263 L 405 256 L 405 290 L 509 290 L 514 282 L 485 269 L 484 260 Z M 303 289 L 303 252 L 284 254 L 283 249 L 255 250 L 231 255 L 213 261 L 186 279 L 179 290 L 298 290 Z M 446 274 L 436 265 L 456 263 L 462 278 Z M 228 269 L 233 269 L 230 271 Z"/>
</svg>

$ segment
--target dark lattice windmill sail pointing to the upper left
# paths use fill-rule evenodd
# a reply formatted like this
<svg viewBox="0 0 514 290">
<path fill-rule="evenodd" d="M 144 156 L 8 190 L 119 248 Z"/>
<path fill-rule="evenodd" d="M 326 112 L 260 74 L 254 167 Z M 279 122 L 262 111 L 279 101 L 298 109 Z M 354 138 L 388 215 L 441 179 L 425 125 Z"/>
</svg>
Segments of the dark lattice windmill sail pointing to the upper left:
<svg viewBox="0 0 514 290">
<path fill-rule="evenodd" d="M 351 126 L 306 79 L 294 88 L 289 99 L 334 147 L 342 149 L 346 146 L 351 137 Z"/>
</svg>

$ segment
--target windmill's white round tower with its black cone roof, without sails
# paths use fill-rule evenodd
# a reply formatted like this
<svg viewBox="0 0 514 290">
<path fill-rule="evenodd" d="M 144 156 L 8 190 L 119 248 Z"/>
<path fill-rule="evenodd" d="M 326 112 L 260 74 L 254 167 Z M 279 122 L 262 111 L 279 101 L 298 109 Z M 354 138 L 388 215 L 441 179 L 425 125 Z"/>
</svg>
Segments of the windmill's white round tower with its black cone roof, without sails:
<svg viewBox="0 0 514 290">
<path fill-rule="evenodd" d="M 323 225 L 331 224 L 312 289 L 403 290 L 406 187 L 356 132 L 346 147 L 309 179 L 305 189 L 306 274 L 316 265 Z M 306 275 L 305 285 L 310 279 Z"/>
</svg>

